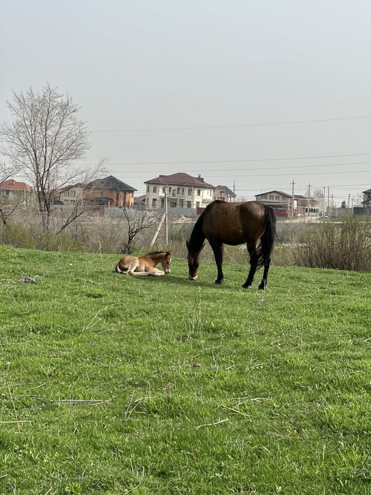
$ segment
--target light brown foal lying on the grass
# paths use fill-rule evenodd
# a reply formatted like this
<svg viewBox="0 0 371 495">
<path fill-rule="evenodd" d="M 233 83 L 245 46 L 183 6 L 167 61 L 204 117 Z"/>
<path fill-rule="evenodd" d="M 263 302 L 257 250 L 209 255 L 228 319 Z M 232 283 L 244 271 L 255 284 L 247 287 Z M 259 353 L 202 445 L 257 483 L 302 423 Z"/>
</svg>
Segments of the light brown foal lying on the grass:
<svg viewBox="0 0 371 495">
<path fill-rule="evenodd" d="M 171 251 L 155 251 L 144 256 L 124 256 L 116 265 L 116 272 L 122 275 L 152 275 L 158 277 L 170 273 Z M 164 270 L 158 270 L 156 266 L 161 263 Z"/>
</svg>

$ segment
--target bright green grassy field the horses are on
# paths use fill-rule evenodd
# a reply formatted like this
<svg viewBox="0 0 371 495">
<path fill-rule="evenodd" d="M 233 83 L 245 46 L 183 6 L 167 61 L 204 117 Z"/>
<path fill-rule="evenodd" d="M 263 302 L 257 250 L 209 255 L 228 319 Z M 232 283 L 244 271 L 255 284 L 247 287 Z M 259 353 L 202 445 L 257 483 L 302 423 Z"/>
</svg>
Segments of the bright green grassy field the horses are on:
<svg viewBox="0 0 371 495">
<path fill-rule="evenodd" d="M 371 274 L 118 259 L 0 246 L 1 494 L 371 493 Z"/>
</svg>

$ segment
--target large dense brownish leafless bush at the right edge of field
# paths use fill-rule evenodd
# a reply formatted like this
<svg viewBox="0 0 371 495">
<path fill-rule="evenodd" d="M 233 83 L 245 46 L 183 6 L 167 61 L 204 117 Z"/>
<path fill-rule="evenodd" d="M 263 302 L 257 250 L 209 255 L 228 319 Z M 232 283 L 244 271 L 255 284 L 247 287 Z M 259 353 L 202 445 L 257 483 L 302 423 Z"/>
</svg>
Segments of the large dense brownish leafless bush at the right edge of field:
<svg viewBox="0 0 371 495">
<path fill-rule="evenodd" d="M 309 224 L 294 250 L 300 266 L 371 272 L 371 220 L 356 215 Z"/>
</svg>

